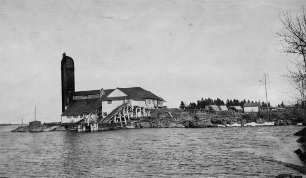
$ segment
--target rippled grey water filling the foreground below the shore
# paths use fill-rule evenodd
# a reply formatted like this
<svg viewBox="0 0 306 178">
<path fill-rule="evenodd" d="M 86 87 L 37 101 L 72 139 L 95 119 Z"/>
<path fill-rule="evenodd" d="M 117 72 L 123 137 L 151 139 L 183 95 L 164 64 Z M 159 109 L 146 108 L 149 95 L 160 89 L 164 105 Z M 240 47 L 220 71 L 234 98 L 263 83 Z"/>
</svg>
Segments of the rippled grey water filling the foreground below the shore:
<svg viewBox="0 0 306 178">
<path fill-rule="evenodd" d="M 0 177 L 275 178 L 301 175 L 301 126 L 11 133 L 0 126 Z"/>
</svg>

